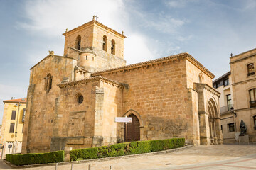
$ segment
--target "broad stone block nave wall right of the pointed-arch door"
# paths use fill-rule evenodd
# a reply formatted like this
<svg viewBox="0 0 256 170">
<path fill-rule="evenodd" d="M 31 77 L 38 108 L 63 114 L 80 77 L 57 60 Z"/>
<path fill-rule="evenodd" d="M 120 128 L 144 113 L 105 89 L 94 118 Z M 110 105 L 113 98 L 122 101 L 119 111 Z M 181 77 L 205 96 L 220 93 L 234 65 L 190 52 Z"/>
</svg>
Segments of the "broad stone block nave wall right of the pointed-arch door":
<svg viewBox="0 0 256 170">
<path fill-rule="evenodd" d="M 187 142 L 193 142 L 192 114 L 187 109 L 191 106 L 186 89 L 186 60 L 101 75 L 127 84 L 123 89 L 122 113 L 133 109 L 140 115 L 140 122 L 144 122 L 141 140 L 186 137 Z"/>
</svg>

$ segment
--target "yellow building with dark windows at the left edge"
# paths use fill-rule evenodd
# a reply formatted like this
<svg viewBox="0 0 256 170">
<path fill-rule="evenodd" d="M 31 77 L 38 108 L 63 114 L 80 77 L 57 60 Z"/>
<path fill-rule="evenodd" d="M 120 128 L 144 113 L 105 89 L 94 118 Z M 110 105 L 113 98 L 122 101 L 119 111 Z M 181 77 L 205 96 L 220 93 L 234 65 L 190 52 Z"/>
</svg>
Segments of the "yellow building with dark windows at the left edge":
<svg viewBox="0 0 256 170">
<path fill-rule="evenodd" d="M 0 144 L 3 146 L 1 159 L 6 154 L 21 153 L 23 125 L 26 113 L 26 98 L 4 101 Z"/>
</svg>

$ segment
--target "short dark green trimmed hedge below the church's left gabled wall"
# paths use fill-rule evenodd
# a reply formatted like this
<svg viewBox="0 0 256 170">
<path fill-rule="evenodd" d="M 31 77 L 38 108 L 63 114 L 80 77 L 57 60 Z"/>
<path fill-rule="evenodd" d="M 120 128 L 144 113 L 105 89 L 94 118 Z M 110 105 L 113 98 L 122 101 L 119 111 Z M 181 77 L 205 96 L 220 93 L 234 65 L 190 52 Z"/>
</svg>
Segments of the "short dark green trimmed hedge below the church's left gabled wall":
<svg viewBox="0 0 256 170">
<path fill-rule="evenodd" d="M 15 165 L 47 164 L 64 161 L 64 151 L 55 151 L 39 154 L 6 154 L 6 161 Z"/>
</svg>

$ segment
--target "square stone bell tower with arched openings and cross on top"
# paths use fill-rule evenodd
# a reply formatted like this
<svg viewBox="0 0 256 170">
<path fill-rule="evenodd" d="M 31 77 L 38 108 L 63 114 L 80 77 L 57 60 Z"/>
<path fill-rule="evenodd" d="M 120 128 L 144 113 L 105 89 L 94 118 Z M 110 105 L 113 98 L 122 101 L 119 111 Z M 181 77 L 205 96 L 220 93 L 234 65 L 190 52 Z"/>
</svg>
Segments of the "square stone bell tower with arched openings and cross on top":
<svg viewBox="0 0 256 170">
<path fill-rule="evenodd" d="M 124 38 L 112 28 L 98 22 L 93 16 L 92 21 L 66 30 L 64 56 L 77 60 L 77 66 L 88 72 L 122 67 L 124 60 Z"/>
</svg>

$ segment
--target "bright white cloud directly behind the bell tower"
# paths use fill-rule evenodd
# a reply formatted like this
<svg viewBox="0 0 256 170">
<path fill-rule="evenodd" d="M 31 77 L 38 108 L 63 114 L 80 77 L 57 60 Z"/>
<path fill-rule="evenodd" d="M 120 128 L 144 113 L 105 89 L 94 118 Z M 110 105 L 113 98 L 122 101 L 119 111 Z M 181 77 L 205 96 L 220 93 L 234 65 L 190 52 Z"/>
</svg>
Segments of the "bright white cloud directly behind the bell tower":
<svg viewBox="0 0 256 170">
<path fill-rule="evenodd" d="M 133 30 L 129 25 L 130 16 L 122 0 L 28 0 L 25 4 L 25 13 L 29 21 L 18 23 L 18 26 L 33 34 L 39 33 L 42 38 L 51 38 L 50 42 L 44 45 L 46 47 L 28 51 L 33 64 L 43 59 L 48 50 L 54 50 L 56 55 L 63 55 L 64 42 L 60 44 L 60 35 L 65 32 L 65 28 L 70 30 L 80 26 L 92 20 L 93 15 L 99 16 L 98 21 L 119 33 L 124 30 L 127 36 L 124 40 L 124 59 L 127 63 L 151 60 L 154 56 L 146 45 L 146 36 Z"/>
</svg>

